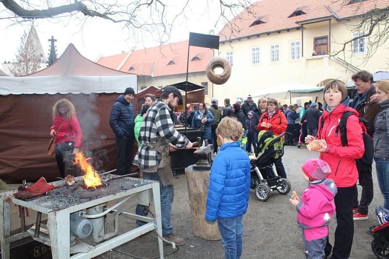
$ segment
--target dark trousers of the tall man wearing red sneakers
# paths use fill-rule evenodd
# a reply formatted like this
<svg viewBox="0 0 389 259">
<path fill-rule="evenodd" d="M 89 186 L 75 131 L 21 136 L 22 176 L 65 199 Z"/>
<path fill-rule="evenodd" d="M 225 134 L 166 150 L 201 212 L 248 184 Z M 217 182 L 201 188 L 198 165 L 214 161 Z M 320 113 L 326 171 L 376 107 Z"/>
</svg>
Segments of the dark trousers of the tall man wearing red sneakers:
<svg viewBox="0 0 389 259">
<path fill-rule="evenodd" d="M 356 168 L 359 174 L 359 185 L 362 186 L 361 202 L 358 205 L 358 189 L 355 185 L 354 208 L 361 214 L 368 214 L 369 205 L 373 200 L 373 178 L 371 177 L 371 164 L 365 164 L 361 161 L 356 162 Z"/>
</svg>

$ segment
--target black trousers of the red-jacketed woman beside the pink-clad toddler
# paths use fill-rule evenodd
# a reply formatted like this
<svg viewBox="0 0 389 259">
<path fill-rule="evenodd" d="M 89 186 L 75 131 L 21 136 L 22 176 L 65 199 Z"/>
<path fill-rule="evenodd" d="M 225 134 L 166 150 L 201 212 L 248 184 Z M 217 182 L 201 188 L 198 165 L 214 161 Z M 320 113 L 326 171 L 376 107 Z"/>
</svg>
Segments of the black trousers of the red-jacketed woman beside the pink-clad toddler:
<svg viewBox="0 0 389 259">
<path fill-rule="evenodd" d="M 355 186 L 338 187 L 335 195 L 336 207 L 336 230 L 334 248 L 327 238 L 327 245 L 324 249 L 328 256 L 331 253 L 331 259 L 347 259 L 350 257 L 351 247 L 354 237 L 354 221 L 353 221 L 353 203 L 355 196 Z"/>
</svg>

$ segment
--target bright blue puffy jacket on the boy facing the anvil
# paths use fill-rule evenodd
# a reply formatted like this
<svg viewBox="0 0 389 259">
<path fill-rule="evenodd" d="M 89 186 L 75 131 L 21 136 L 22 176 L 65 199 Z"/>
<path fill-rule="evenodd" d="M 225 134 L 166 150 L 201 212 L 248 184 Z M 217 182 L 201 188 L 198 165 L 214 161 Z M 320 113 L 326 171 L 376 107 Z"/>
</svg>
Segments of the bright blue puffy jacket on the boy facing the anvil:
<svg viewBox="0 0 389 259">
<path fill-rule="evenodd" d="M 236 142 L 226 143 L 213 160 L 205 218 L 234 218 L 245 214 L 250 193 L 250 160 Z"/>
</svg>

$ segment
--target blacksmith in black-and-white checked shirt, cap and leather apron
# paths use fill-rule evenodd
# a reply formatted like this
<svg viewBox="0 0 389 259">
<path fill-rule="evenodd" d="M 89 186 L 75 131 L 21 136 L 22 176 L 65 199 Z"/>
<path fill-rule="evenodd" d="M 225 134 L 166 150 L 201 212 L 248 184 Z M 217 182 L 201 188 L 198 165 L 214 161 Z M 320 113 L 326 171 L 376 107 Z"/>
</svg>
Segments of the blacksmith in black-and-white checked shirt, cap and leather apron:
<svg viewBox="0 0 389 259">
<path fill-rule="evenodd" d="M 180 91 L 175 86 L 166 86 L 160 100 L 149 108 L 144 117 L 139 132 L 141 147 L 133 163 L 140 167 L 144 179 L 159 181 L 163 237 L 177 245 L 183 245 L 185 240 L 177 237 L 170 225 L 174 178 L 169 151 L 173 152 L 183 147 L 191 148 L 193 144 L 174 128 L 170 112 L 178 104 L 182 104 Z M 138 215 L 146 216 L 145 212 L 147 212 L 147 207 L 137 206 Z M 137 224 L 143 223 L 137 221 Z"/>
</svg>

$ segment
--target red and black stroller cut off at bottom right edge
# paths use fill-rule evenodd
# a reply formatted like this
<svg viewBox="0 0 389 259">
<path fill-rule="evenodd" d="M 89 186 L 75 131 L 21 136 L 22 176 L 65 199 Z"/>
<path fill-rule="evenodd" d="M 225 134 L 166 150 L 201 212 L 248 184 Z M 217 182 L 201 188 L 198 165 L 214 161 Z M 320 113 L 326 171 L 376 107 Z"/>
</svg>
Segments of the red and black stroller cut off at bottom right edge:
<svg viewBox="0 0 389 259">
<path fill-rule="evenodd" d="M 369 227 L 369 233 L 374 240 L 371 242 L 371 250 L 379 259 L 389 259 L 389 211 L 382 205 L 375 208 L 378 226 Z"/>
</svg>

